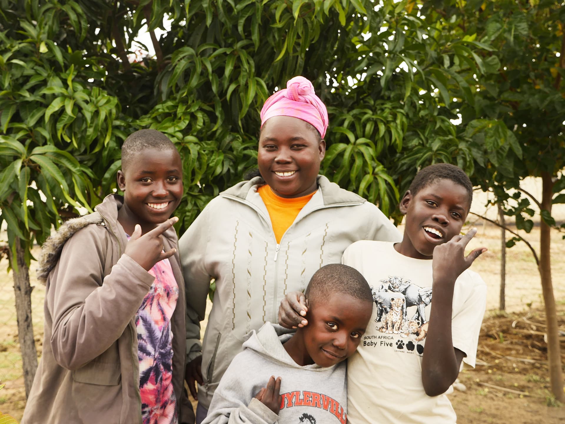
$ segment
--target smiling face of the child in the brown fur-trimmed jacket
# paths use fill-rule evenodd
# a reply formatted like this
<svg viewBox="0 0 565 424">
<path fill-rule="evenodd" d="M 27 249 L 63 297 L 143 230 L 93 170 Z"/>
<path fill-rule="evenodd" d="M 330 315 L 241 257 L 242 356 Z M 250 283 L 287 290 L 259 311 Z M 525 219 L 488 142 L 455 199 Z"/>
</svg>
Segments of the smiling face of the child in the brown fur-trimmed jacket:
<svg viewBox="0 0 565 424">
<path fill-rule="evenodd" d="M 182 164 L 179 152 L 171 149 L 144 149 L 128 159 L 118 171 L 118 187 L 124 192 L 124 205 L 118 220 L 128 234 L 136 224 L 145 234 L 171 217 L 182 198 Z"/>
</svg>

